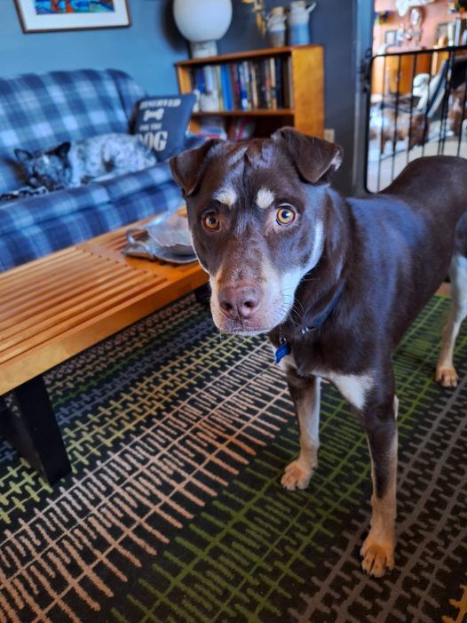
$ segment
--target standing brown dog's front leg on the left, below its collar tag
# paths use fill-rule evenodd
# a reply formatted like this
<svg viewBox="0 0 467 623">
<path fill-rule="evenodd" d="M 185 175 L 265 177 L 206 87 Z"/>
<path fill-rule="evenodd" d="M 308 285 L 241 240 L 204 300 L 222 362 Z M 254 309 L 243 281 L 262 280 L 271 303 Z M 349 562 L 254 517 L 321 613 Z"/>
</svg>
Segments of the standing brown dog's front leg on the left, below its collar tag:
<svg viewBox="0 0 467 623">
<path fill-rule="evenodd" d="M 300 428 L 300 454 L 285 468 L 281 483 L 289 491 L 294 491 L 308 486 L 313 470 L 318 466 L 321 379 L 315 376 L 301 378 L 289 370 L 287 384 Z"/>
</svg>

